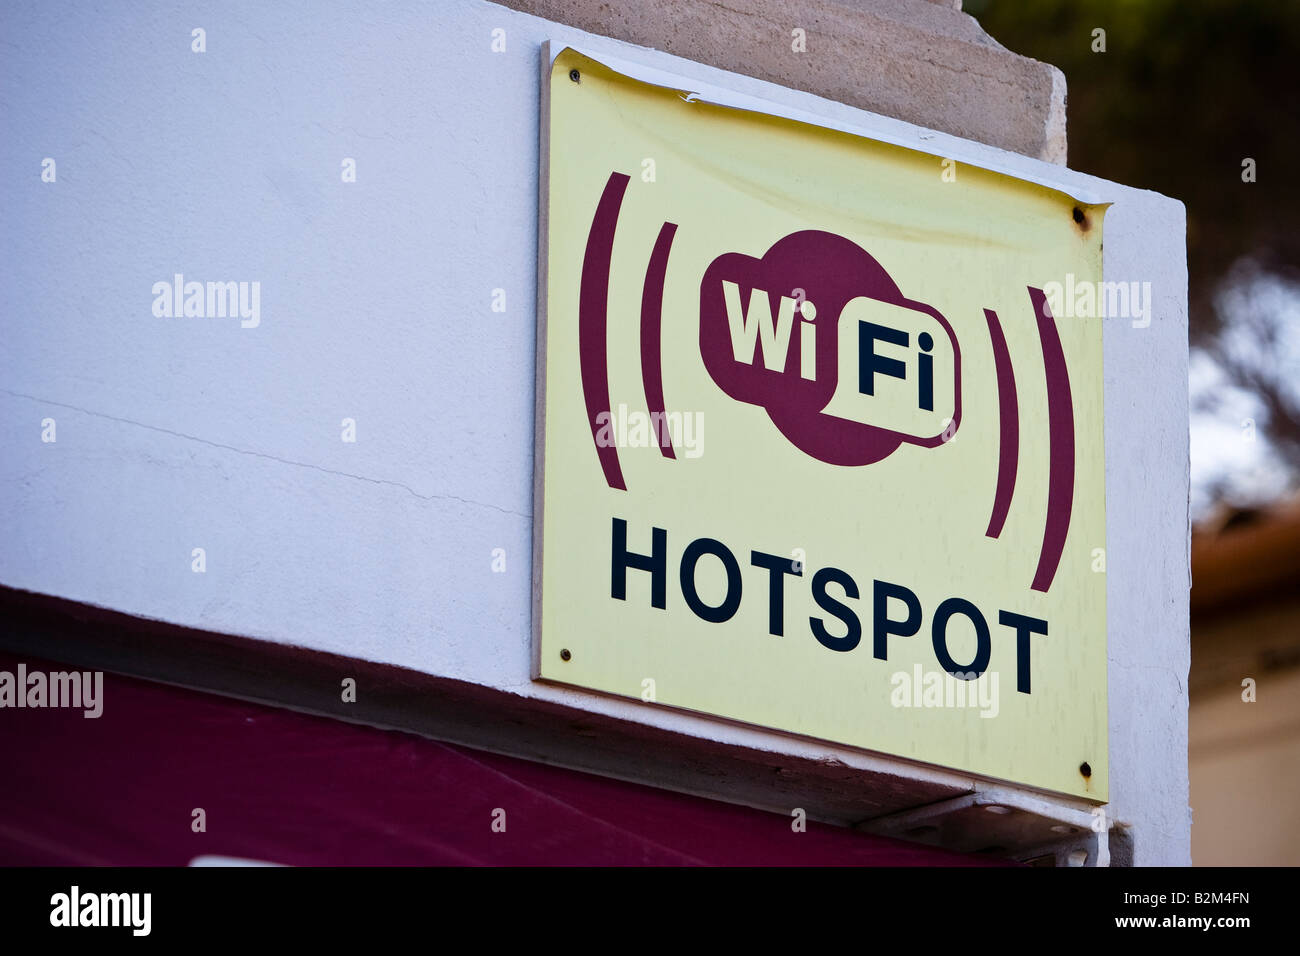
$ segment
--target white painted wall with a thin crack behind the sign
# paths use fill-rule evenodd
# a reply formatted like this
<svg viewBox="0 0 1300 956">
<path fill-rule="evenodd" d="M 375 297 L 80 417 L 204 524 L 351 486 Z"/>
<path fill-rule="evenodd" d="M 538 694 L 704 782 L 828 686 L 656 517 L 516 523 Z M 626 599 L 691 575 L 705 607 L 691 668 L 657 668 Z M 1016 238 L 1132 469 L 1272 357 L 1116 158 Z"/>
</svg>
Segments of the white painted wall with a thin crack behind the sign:
<svg viewBox="0 0 1300 956">
<path fill-rule="evenodd" d="M 529 680 L 538 49 L 1113 198 L 1106 277 L 1157 297 L 1105 339 L 1113 816 L 1190 861 L 1180 203 L 477 0 L 6 3 L 0 36 L 0 583 L 926 779 L 970 783 Z M 177 272 L 259 281 L 260 325 L 155 317 Z"/>
</svg>

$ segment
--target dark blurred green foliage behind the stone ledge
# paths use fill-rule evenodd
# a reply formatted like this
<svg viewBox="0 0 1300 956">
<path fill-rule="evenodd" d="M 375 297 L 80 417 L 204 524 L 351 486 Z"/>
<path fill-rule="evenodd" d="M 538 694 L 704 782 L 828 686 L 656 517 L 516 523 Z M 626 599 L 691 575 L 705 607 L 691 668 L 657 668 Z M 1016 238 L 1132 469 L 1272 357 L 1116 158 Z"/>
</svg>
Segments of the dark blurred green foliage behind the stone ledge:
<svg viewBox="0 0 1300 956">
<path fill-rule="evenodd" d="M 1067 82 L 1070 166 L 1187 206 L 1193 341 L 1235 265 L 1300 278 L 1300 1 L 965 0 Z M 1105 30 L 1105 52 L 1093 31 Z M 1242 163 L 1256 161 L 1256 182 Z"/>
</svg>

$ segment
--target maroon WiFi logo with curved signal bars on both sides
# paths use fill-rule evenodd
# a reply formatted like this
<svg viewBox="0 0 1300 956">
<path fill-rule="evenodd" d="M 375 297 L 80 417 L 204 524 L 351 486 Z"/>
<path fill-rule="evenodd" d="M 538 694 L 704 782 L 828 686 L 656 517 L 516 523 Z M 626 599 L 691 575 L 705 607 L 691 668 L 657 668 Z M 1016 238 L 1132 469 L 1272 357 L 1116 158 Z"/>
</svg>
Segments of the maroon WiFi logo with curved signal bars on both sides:
<svg viewBox="0 0 1300 956">
<path fill-rule="evenodd" d="M 598 440 L 610 418 L 607 324 L 614 235 L 630 177 L 611 173 L 597 203 L 578 290 L 578 367 L 592 444 L 610 488 L 627 490 L 619 449 Z M 647 410 L 666 415 L 663 297 L 677 224 L 664 221 L 640 303 Z M 1048 498 L 1030 588 L 1048 592 L 1074 506 L 1075 416 L 1061 336 L 1041 289 L 1026 287 L 1048 397 Z M 997 389 L 997 480 L 985 536 L 998 538 L 1015 496 L 1020 402 L 1002 321 L 983 308 Z M 906 350 L 900 358 L 900 350 Z M 760 256 L 723 252 L 699 287 L 699 352 L 731 398 L 762 407 L 796 447 L 837 466 L 880 462 L 905 444 L 937 449 L 962 421 L 962 346 L 939 310 L 910 299 L 866 250 L 819 230 L 792 233 Z M 672 438 L 659 451 L 676 459 Z M 936 459 L 936 463 L 942 459 Z"/>
</svg>

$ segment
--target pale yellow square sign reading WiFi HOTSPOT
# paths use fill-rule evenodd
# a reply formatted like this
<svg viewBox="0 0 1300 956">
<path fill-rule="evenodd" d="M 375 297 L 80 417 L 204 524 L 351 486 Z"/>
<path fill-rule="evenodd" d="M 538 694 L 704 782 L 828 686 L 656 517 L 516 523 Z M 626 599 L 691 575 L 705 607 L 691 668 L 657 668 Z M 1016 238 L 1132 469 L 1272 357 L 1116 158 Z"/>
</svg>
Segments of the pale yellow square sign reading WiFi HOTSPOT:
<svg viewBox="0 0 1300 956">
<path fill-rule="evenodd" d="M 1104 209 L 547 86 L 534 676 L 1105 800 Z"/>
</svg>

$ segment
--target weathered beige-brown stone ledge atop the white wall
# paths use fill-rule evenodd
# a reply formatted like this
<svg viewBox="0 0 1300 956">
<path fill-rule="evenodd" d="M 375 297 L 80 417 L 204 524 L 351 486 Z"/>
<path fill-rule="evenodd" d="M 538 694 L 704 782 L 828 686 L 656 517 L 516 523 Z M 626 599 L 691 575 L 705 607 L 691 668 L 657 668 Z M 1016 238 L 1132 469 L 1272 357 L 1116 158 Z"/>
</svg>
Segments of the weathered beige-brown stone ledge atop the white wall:
<svg viewBox="0 0 1300 956">
<path fill-rule="evenodd" d="M 1065 75 L 956 0 L 495 0 L 928 129 L 1063 165 Z M 806 34 L 792 51 L 792 31 Z"/>
</svg>

